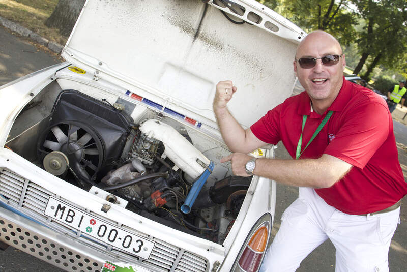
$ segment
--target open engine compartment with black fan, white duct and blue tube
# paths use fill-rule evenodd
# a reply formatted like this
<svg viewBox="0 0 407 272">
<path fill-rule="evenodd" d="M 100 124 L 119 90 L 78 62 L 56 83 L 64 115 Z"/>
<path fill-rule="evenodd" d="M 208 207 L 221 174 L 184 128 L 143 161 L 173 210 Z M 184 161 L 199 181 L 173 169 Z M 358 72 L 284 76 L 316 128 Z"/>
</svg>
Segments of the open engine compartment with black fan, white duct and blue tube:
<svg viewBox="0 0 407 272">
<path fill-rule="evenodd" d="M 56 97 L 52 106 L 49 97 Z M 205 134 L 120 97 L 109 100 L 61 91 L 55 83 L 24 108 L 14 126 L 39 109 L 49 114 L 19 128 L 23 132 L 6 146 L 65 182 L 106 191 L 109 202 L 125 200 L 134 213 L 221 244 L 251 177 L 232 176 L 219 163 L 229 151 Z"/>
</svg>

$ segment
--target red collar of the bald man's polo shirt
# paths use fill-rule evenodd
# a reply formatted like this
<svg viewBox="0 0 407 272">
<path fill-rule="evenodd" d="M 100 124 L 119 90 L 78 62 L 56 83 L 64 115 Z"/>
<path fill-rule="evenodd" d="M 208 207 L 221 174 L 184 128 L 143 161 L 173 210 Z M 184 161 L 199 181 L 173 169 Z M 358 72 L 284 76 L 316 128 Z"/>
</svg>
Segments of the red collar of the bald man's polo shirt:
<svg viewBox="0 0 407 272">
<path fill-rule="evenodd" d="M 342 80 L 342 87 L 340 88 L 334 102 L 328 107 L 327 111 L 332 110 L 340 112 L 345 107 L 346 103 L 351 99 L 350 89 L 352 87 L 352 83 L 345 80 L 345 77 L 343 77 Z M 321 116 L 324 116 L 326 112 L 324 112 L 323 115 L 319 115 L 315 111 L 311 112 L 311 99 L 309 98 L 307 92 L 302 92 L 300 94 L 300 106 L 297 110 L 298 114 L 309 115 L 311 118 L 321 118 Z"/>
</svg>

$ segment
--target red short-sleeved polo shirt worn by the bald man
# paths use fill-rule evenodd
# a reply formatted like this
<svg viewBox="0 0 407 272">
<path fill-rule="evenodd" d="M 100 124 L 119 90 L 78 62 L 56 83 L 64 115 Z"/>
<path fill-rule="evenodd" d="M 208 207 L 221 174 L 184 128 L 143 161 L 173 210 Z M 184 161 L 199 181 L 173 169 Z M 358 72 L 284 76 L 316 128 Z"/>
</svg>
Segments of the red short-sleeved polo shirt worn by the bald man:
<svg viewBox="0 0 407 272">
<path fill-rule="evenodd" d="M 385 209 L 407 194 L 407 183 L 398 162 L 393 120 L 383 98 L 346 81 L 323 115 L 311 112 L 306 92 L 287 98 L 251 126 L 254 135 L 267 143 L 280 140 L 295 158 L 305 123 L 302 149 L 326 113 L 327 125 L 305 149 L 300 159 L 329 154 L 352 164 L 351 171 L 330 188 L 315 189 L 329 205 L 346 214 L 366 214 Z"/>
</svg>

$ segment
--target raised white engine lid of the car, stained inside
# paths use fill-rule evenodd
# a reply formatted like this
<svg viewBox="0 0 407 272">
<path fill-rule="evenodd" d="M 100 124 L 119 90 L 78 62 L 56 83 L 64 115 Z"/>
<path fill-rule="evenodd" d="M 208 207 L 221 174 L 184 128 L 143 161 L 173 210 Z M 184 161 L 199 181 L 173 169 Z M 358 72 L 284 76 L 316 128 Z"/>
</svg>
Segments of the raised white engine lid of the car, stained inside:
<svg viewBox="0 0 407 272">
<path fill-rule="evenodd" d="M 304 37 L 254 0 L 92 0 L 62 56 L 213 127 L 216 84 L 232 80 L 238 92 L 229 110 L 249 127 L 292 92 Z"/>
</svg>

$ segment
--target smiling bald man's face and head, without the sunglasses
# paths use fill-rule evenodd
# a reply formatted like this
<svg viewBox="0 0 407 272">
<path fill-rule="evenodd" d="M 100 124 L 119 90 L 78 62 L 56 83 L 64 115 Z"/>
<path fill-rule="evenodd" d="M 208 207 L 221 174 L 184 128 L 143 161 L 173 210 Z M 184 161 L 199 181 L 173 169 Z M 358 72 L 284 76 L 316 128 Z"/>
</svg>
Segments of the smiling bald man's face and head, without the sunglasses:
<svg viewBox="0 0 407 272">
<path fill-rule="evenodd" d="M 340 45 L 332 36 L 316 32 L 309 34 L 299 45 L 296 59 L 321 58 L 330 54 L 341 55 Z M 344 55 L 339 57 L 339 62 L 333 66 L 324 66 L 321 59 L 317 59 L 314 67 L 305 69 L 300 67 L 298 62 L 294 62 L 294 72 L 314 102 L 320 100 L 333 102 L 343 83 L 344 68 Z"/>
</svg>

